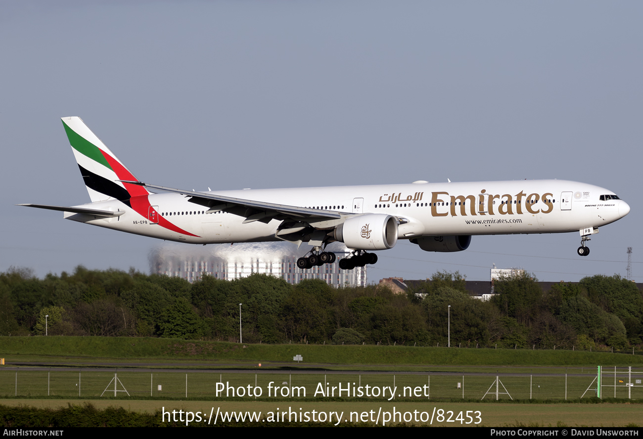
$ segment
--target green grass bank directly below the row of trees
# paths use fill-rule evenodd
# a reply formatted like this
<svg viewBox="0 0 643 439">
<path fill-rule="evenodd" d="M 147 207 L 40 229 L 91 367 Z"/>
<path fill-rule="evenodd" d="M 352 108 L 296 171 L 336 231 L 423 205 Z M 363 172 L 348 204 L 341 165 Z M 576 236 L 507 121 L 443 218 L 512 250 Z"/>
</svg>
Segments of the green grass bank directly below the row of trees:
<svg viewBox="0 0 643 439">
<path fill-rule="evenodd" d="M 305 363 L 354 366 L 637 366 L 642 355 L 611 354 L 568 350 L 512 350 L 473 348 L 433 348 L 410 346 L 320 346 L 320 345 L 240 345 L 217 341 L 185 341 L 133 337 L 0 337 L 0 357 L 64 361 L 91 364 L 96 359 L 131 362 L 235 361 L 247 363 L 288 363 L 296 354 Z M 93 361 L 94 359 L 94 361 Z M 235 367 L 238 367 L 235 364 Z"/>
</svg>

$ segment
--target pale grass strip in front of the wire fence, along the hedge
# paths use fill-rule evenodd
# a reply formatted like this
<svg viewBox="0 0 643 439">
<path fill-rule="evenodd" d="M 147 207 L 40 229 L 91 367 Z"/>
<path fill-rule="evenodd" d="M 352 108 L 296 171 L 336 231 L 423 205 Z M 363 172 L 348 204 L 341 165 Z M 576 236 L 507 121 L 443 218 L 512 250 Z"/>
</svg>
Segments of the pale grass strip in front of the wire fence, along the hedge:
<svg viewBox="0 0 643 439">
<path fill-rule="evenodd" d="M 368 401 L 351 401 L 351 402 L 303 402 L 297 404 L 284 404 L 284 402 L 274 403 L 274 402 L 209 402 L 209 401 L 152 401 L 152 400 L 127 400 L 127 401 L 114 401 L 114 400 L 91 400 L 91 401 L 74 401 L 73 405 L 68 406 L 68 402 L 62 400 L 35 400 L 35 399 L 23 399 L 23 400 L 3 400 L 1 401 L 0 412 L 10 412 L 10 408 L 14 409 L 14 427 L 15 426 L 51 426 L 51 421 L 49 417 L 39 416 L 38 411 L 46 411 L 48 409 L 58 409 L 60 411 L 67 411 L 68 413 L 73 413 L 74 417 L 62 417 L 60 419 L 61 426 L 78 426 L 81 421 L 84 420 L 86 425 L 91 424 L 91 421 L 95 418 L 99 418 L 98 426 L 104 425 L 103 422 L 112 422 L 114 426 L 122 425 L 123 420 L 132 418 L 131 413 L 141 413 L 147 414 L 148 417 L 152 416 L 151 419 L 147 420 L 146 425 L 159 425 L 163 424 L 161 421 L 161 411 L 171 412 L 172 410 L 182 410 L 182 411 L 201 411 L 202 413 L 209 414 L 210 410 L 213 408 L 213 411 L 217 411 L 219 408 L 221 411 L 255 411 L 261 412 L 261 418 L 266 418 L 269 415 L 269 412 L 275 412 L 277 408 L 282 411 L 288 412 L 289 409 L 292 409 L 294 412 L 305 412 L 309 413 L 312 410 L 317 412 L 324 411 L 328 413 L 329 411 L 340 411 L 343 413 L 343 419 L 347 420 L 347 423 L 356 422 L 361 413 L 370 413 L 374 411 L 374 414 L 377 415 L 379 409 L 381 408 L 382 412 L 385 411 L 388 413 L 393 413 L 394 410 L 397 413 L 412 413 L 413 411 L 419 411 L 420 416 L 424 412 L 424 418 L 431 418 L 431 415 L 434 413 L 433 409 L 435 408 L 435 417 L 433 418 L 433 426 L 440 427 L 460 427 L 466 426 L 466 424 L 460 424 L 460 421 L 457 422 L 446 422 L 448 419 L 448 411 L 453 411 L 453 416 L 451 418 L 456 418 L 458 413 L 463 412 L 466 414 L 466 411 L 480 411 L 480 418 L 482 422 L 478 425 L 486 427 L 547 427 L 547 426 L 560 426 L 560 427 L 577 427 L 577 426 L 593 426 L 593 427 L 633 427 L 640 426 L 642 422 L 640 421 L 640 407 L 637 404 L 481 404 L 476 402 L 368 402 Z M 84 404 L 84 405 L 83 405 Z M 89 405 L 91 404 L 91 406 Z M 126 410 L 118 411 L 117 407 L 122 407 Z M 442 410 L 445 417 L 441 418 L 442 422 L 439 422 L 437 413 L 439 410 Z M 100 411 L 109 411 L 108 413 L 99 413 Z M 82 412 L 89 413 L 82 413 Z M 49 412 L 51 413 L 51 412 Z M 46 415 L 49 413 L 45 412 Z M 470 413 L 473 416 L 476 416 L 476 413 Z M 22 416 L 20 416 L 22 415 Z M 84 417 L 82 415 L 85 415 Z M 100 416 L 102 415 L 102 416 Z M 395 419 L 395 424 L 399 421 L 399 417 Z M 286 415 L 287 416 L 287 415 Z M 406 415 L 410 418 L 410 415 Z M 352 417 L 352 418 L 351 418 Z M 41 418 L 45 418 L 46 422 L 39 422 Z M 53 418 L 53 417 L 52 417 Z M 65 422 L 66 421 L 66 422 Z M 475 427 L 477 419 L 472 419 L 472 424 L 469 424 L 470 427 Z M 167 422 L 167 418 L 166 418 Z M 404 422 L 402 420 L 401 422 Z M 430 420 L 427 422 L 417 422 L 417 424 L 430 424 Z M 467 418 L 464 417 L 464 422 L 467 422 Z M 410 423 L 416 424 L 415 420 L 412 420 Z M 180 423 L 179 423 L 180 424 Z M 190 424 L 195 426 L 195 422 Z M 335 422 L 323 423 L 326 426 L 335 424 Z M 363 426 L 374 426 L 375 422 L 367 422 L 366 424 L 360 424 Z M 377 425 L 381 425 L 382 421 L 379 420 Z M 108 424 L 109 425 L 109 424 Z M 185 425 L 185 424 L 183 424 Z M 203 424 L 206 425 L 206 424 Z M 217 423 L 217 426 L 221 425 L 221 422 Z M 236 422 L 228 422 L 228 426 L 237 426 Z M 273 425 L 268 424 L 267 422 L 259 422 L 255 424 L 256 426 L 269 427 L 269 426 L 280 426 L 284 425 L 282 423 L 276 423 Z M 288 425 L 286 422 L 285 425 Z M 292 423 L 291 425 L 297 426 L 299 424 Z M 390 424 L 389 424 L 390 425 Z M 197 424 L 198 426 L 198 424 Z"/>
</svg>

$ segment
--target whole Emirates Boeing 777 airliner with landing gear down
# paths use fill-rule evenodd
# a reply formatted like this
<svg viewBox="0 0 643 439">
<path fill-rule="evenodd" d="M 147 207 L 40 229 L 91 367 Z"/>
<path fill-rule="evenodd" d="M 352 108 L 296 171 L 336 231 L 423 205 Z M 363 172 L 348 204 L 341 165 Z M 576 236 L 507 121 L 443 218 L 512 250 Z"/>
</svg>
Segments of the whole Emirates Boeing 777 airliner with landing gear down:
<svg viewBox="0 0 643 439">
<path fill-rule="evenodd" d="M 302 269 L 336 260 L 375 264 L 368 253 L 408 239 L 424 251 L 462 251 L 472 235 L 579 232 L 585 242 L 629 212 L 611 190 L 564 180 L 428 183 L 194 192 L 141 183 L 78 117 L 62 118 L 91 203 L 21 204 L 66 219 L 190 244 L 284 240 L 311 246 Z M 152 192 L 154 191 L 154 192 Z M 163 193 L 155 193 L 163 192 Z"/>
</svg>

